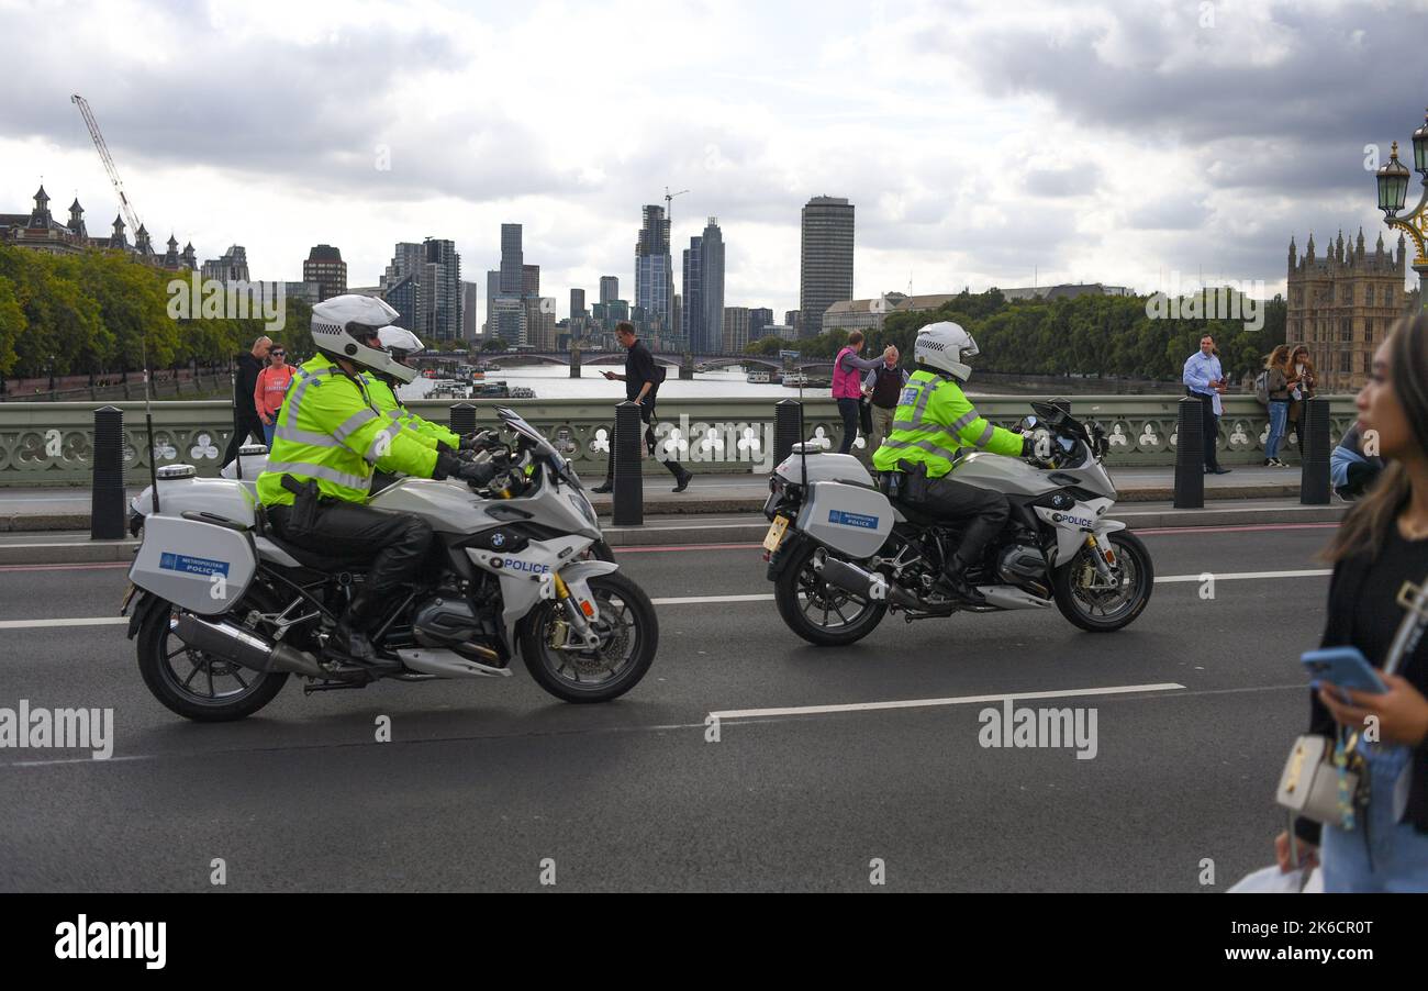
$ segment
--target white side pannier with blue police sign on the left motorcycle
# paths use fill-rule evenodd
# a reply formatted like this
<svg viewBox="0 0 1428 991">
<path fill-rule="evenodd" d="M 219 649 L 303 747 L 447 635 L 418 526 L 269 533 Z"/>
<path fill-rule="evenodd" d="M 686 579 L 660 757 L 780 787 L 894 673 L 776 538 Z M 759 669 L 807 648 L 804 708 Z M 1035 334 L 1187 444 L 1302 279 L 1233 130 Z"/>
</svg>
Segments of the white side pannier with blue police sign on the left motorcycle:
<svg viewBox="0 0 1428 991">
<path fill-rule="evenodd" d="M 253 535 L 211 523 L 151 515 L 129 580 L 198 615 L 221 615 L 257 573 Z"/>
</svg>

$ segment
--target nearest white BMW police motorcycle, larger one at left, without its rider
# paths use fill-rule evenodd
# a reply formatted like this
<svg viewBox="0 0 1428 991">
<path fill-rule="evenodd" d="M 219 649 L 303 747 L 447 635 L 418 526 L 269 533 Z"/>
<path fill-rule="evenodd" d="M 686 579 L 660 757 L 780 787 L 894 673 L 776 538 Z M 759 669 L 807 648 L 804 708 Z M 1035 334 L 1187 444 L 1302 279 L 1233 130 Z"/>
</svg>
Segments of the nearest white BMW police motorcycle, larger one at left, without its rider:
<svg viewBox="0 0 1428 991">
<path fill-rule="evenodd" d="M 436 533 L 421 584 L 373 625 L 378 657 L 400 661 L 390 667 L 324 651 L 366 555 L 286 543 L 246 484 L 247 464 L 244 481 L 156 481 L 160 507 L 140 507 L 150 511 L 123 608 L 154 697 L 190 720 L 226 721 L 263 708 L 294 674 L 311 694 L 378 678 L 510 677 L 517 657 L 568 703 L 637 685 L 660 637 L 648 595 L 590 555 L 600 523 L 570 461 L 513 410 L 496 413 L 514 437 L 480 456 L 498 468 L 487 486 L 400 478 L 368 503 Z"/>
</svg>

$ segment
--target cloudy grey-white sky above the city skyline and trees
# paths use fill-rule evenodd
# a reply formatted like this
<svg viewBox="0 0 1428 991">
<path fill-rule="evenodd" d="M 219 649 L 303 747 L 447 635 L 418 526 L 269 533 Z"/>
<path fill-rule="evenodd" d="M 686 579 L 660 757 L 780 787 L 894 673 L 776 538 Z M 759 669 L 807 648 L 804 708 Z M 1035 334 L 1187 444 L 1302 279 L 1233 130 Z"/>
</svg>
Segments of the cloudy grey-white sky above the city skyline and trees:
<svg viewBox="0 0 1428 991">
<path fill-rule="evenodd" d="M 484 308 L 523 223 L 561 317 L 603 274 L 633 296 L 665 187 L 675 247 L 717 216 L 725 303 L 780 317 L 818 194 L 857 206 L 860 297 L 1274 293 L 1291 234 L 1372 248 L 1365 146 L 1428 104 L 1428 0 L 0 0 L 0 213 L 43 176 L 109 228 L 80 93 L 156 241 L 243 244 L 254 278 L 326 241 L 370 286 L 396 241 L 447 237 Z"/>
</svg>

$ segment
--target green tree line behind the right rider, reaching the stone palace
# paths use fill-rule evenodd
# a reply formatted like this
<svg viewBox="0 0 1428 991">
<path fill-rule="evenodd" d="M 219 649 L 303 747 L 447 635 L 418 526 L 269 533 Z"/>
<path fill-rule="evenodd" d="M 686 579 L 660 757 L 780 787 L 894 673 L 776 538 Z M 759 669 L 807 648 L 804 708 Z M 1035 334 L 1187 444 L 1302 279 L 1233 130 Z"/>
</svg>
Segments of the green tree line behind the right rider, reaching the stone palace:
<svg viewBox="0 0 1428 991">
<path fill-rule="evenodd" d="M 1205 290 L 1200 294 L 1198 310 L 1182 306 L 1180 313 L 1221 311 L 1221 306 L 1214 304 L 1217 298 L 1222 304 L 1225 296 Z M 1247 371 L 1257 371 L 1264 356 L 1284 343 L 1284 298 L 1275 296 L 1259 307 L 1262 326 L 1251 328 L 1245 318 L 1151 318 L 1144 296 L 1087 294 L 1010 301 L 998 290 L 964 291 L 934 311 L 890 313 L 881 328 L 864 331 L 868 343 L 863 354 L 894 344 L 902 356 L 902 367 L 910 368 L 917 331 L 930 323 L 951 320 L 977 338 L 981 354 L 972 360 L 972 367 L 981 371 L 1180 381 L 1185 358 L 1200 348 L 1201 337 L 1212 334 L 1225 374 L 1237 381 Z M 847 340 L 847 330 L 833 328 L 797 343 L 765 337 L 750 343 L 745 353 L 778 354 L 781 348 L 794 348 L 801 358 L 831 360 Z"/>
</svg>

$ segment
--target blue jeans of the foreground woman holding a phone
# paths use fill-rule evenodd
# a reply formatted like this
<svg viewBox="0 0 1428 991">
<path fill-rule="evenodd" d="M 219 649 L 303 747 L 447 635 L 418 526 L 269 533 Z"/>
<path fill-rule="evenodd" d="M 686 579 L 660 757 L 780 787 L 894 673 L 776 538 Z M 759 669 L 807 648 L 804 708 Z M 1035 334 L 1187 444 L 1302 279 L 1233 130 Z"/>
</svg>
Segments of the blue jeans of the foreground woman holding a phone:
<svg viewBox="0 0 1428 991">
<path fill-rule="evenodd" d="M 1412 751 L 1367 745 L 1364 757 L 1371 788 L 1368 821 L 1361 814 L 1352 830 L 1324 827 L 1324 891 L 1428 891 L 1428 834 L 1394 820 L 1394 785 L 1412 761 Z"/>
</svg>

